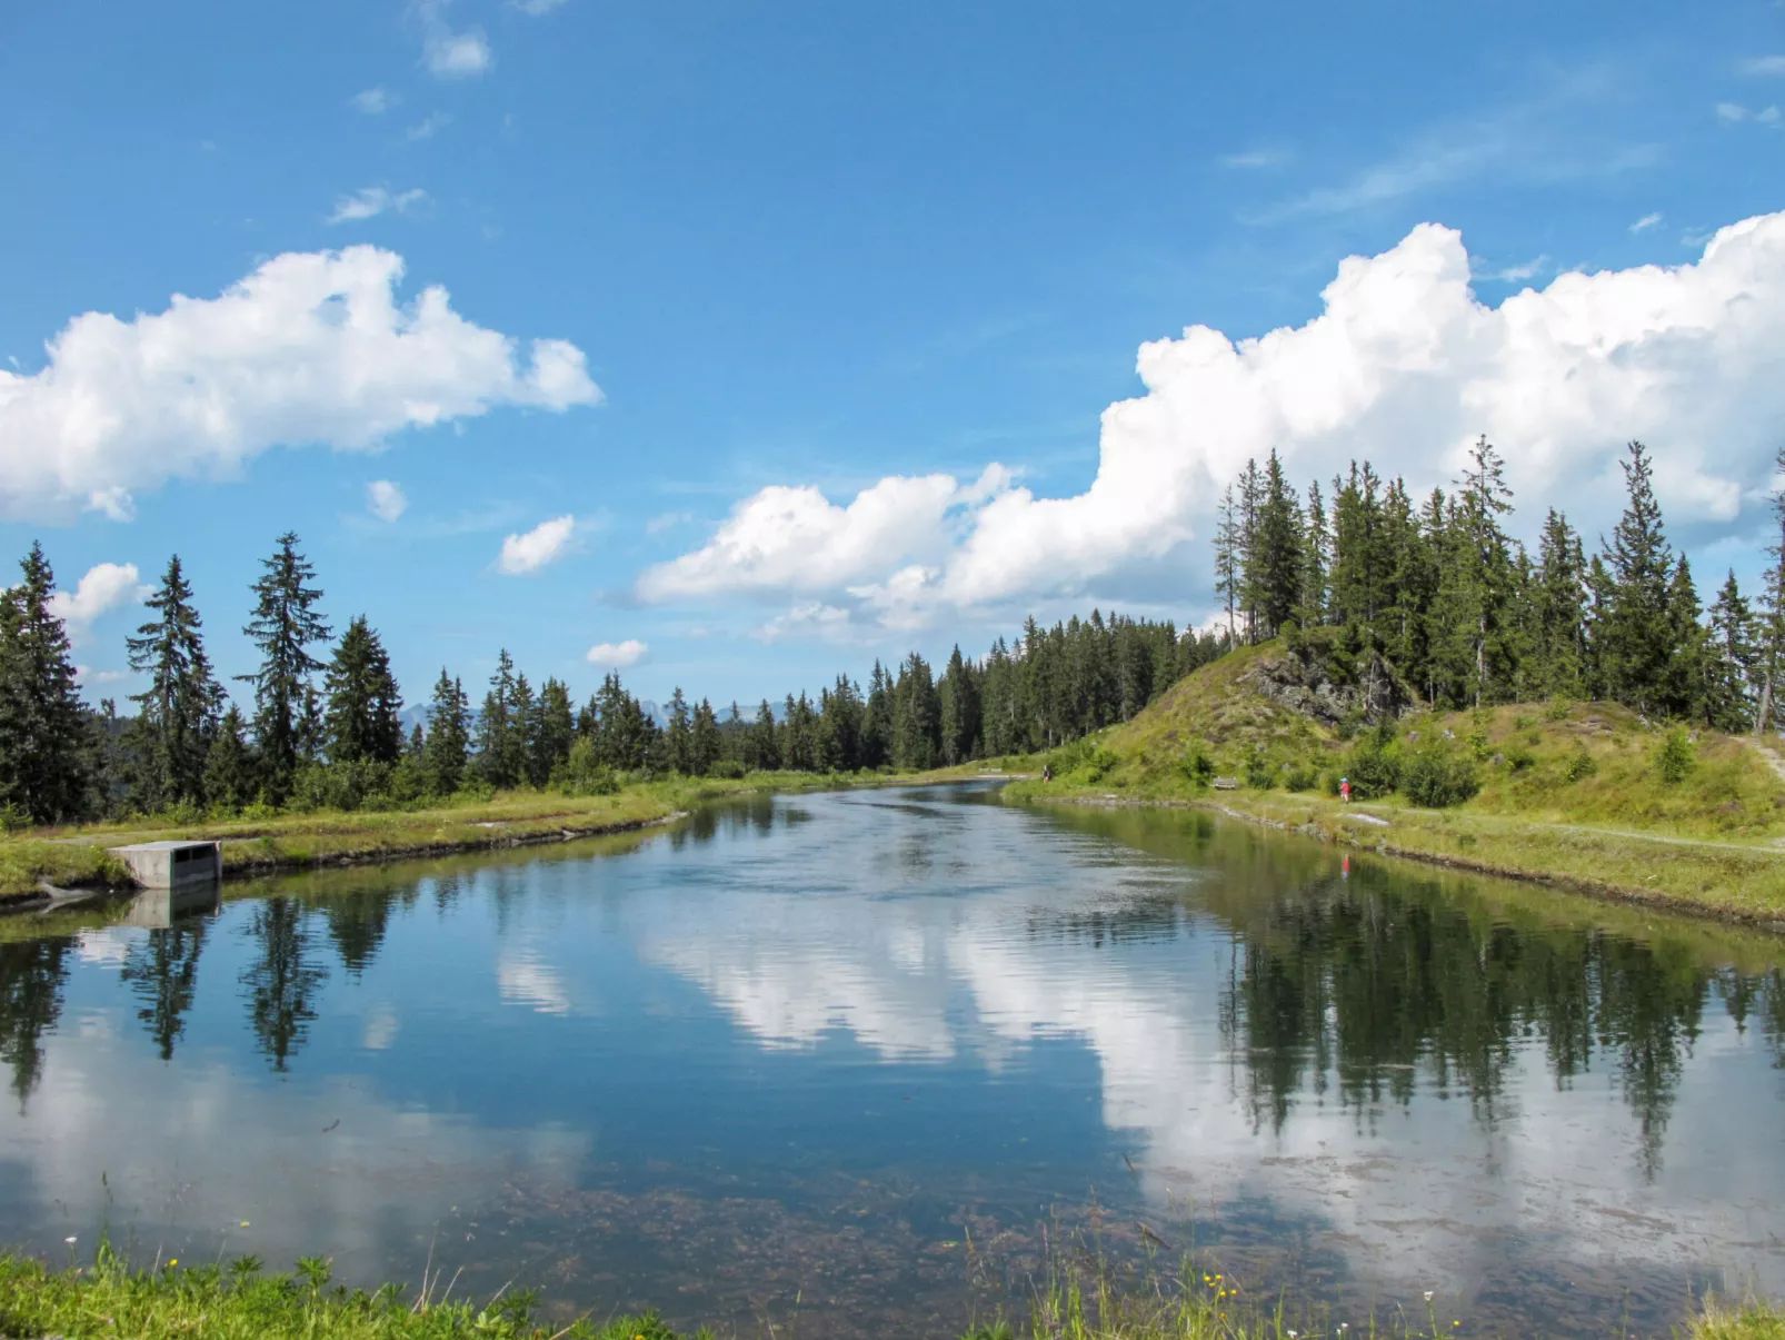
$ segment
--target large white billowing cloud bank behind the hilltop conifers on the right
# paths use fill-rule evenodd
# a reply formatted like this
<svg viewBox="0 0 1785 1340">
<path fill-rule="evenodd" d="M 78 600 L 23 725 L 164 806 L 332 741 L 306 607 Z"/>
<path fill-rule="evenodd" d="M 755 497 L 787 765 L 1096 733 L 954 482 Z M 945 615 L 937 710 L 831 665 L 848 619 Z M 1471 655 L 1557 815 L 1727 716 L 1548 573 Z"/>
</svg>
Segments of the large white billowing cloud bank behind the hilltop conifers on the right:
<svg viewBox="0 0 1785 1340">
<path fill-rule="evenodd" d="M 1424 490 L 1448 484 L 1485 432 L 1528 515 L 1555 502 L 1589 534 L 1615 515 L 1628 438 L 1655 450 L 1676 525 L 1737 520 L 1771 477 L 1785 214 L 1721 229 L 1692 264 L 1565 272 L 1499 307 L 1471 291 L 1462 236 L 1423 223 L 1342 261 L 1323 298 L 1305 325 L 1258 338 L 1192 325 L 1142 345 L 1146 393 L 1103 411 L 1083 493 L 1041 498 L 996 465 L 967 488 L 887 477 L 848 506 L 766 488 L 707 545 L 646 570 L 637 593 L 796 597 L 889 625 L 1119 595 L 1125 572 L 1205 536 L 1221 490 L 1273 447 L 1296 479 L 1369 457 Z"/>
</svg>

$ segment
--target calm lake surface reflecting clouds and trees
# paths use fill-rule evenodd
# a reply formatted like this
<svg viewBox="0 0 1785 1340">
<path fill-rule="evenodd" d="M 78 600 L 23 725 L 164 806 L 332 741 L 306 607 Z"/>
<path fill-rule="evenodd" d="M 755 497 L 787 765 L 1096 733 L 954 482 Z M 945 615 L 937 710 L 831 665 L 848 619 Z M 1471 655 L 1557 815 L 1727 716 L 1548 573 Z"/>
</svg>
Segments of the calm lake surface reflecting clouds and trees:
<svg viewBox="0 0 1785 1340">
<path fill-rule="evenodd" d="M 1778 942 L 1207 817 L 759 799 L 36 927 L 0 1240 L 52 1260 L 432 1254 L 746 1335 L 953 1335 L 1141 1224 L 1330 1320 L 1785 1292 Z"/>
</svg>

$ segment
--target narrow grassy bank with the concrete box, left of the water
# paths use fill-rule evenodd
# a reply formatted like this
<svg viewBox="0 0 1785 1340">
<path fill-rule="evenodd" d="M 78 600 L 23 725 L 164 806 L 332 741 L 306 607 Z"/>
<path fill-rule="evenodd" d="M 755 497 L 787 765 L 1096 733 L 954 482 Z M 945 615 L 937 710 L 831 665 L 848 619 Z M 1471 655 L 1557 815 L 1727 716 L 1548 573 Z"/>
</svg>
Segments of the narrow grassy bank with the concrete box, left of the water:
<svg viewBox="0 0 1785 1340">
<path fill-rule="evenodd" d="M 134 842 L 216 838 L 223 843 L 223 874 L 237 877 L 627 833 L 730 795 L 957 781 L 976 772 L 978 765 L 903 775 L 753 772 L 735 781 L 673 777 L 632 783 L 614 795 L 498 791 L 487 800 L 418 809 L 325 809 L 270 818 L 32 829 L 0 838 L 0 902 L 36 899 L 45 883 L 55 888 L 123 886 L 125 870 L 107 856 L 107 849 Z"/>
</svg>

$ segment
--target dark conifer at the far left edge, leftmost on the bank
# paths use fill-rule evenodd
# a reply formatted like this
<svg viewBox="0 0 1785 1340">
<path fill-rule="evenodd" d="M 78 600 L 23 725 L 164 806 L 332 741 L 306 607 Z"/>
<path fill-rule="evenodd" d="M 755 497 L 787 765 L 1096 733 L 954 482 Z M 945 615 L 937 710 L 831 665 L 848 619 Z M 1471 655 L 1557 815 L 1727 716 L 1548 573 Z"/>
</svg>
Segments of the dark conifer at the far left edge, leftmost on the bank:
<svg viewBox="0 0 1785 1340">
<path fill-rule="evenodd" d="M 89 808 L 93 741 L 41 545 L 20 570 L 23 581 L 0 593 L 0 804 L 61 824 Z"/>
</svg>

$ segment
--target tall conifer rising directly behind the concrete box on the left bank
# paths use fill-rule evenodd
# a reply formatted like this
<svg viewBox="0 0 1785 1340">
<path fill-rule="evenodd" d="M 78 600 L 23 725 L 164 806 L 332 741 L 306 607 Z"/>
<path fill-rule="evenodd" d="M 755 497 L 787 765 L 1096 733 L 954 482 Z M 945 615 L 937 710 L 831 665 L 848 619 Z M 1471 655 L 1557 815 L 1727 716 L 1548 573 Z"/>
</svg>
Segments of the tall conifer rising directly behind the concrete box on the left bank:
<svg viewBox="0 0 1785 1340">
<path fill-rule="evenodd" d="M 223 713 L 223 686 L 211 674 L 193 588 L 180 556 L 168 559 L 161 588 L 143 602 L 159 618 L 127 640 L 130 668 L 148 675 L 148 688 L 132 693 L 141 704 L 136 727 L 139 804 L 203 804 L 205 758 Z"/>
</svg>

